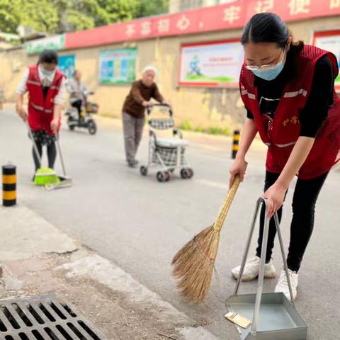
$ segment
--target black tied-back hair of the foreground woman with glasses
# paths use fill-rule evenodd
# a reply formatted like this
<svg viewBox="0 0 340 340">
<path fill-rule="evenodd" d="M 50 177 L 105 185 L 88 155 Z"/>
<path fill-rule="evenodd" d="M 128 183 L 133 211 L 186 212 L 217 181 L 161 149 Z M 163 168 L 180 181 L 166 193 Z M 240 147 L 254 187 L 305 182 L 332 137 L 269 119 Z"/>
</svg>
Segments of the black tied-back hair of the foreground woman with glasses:
<svg viewBox="0 0 340 340">
<path fill-rule="evenodd" d="M 241 43 L 276 42 L 278 47 L 285 47 L 291 36 L 285 22 L 275 13 L 259 13 L 251 17 L 244 27 Z M 303 42 L 292 42 L 292 50 L 300 52 Z"/>
</svg>

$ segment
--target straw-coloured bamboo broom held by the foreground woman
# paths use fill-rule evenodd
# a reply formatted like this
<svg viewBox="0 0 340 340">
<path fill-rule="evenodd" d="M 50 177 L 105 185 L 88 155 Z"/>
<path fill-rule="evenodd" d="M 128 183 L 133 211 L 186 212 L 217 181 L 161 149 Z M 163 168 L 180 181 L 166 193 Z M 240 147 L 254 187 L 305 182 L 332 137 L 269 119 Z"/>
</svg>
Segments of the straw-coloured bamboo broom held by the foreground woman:
<svg viewBox="0 0 340 340">
<path fill-rule="evenodd" d="M 215 268 L 220 231 L 239 183 L 240 179 L 237 175 L 220 208 L 215 223 L 193 237 L 172 259 L 173 275 L 178 279 L 177 287 L 180 293 L 191 302 L 202 302 L 208 293 L 212 271 Z"/>
</svg>

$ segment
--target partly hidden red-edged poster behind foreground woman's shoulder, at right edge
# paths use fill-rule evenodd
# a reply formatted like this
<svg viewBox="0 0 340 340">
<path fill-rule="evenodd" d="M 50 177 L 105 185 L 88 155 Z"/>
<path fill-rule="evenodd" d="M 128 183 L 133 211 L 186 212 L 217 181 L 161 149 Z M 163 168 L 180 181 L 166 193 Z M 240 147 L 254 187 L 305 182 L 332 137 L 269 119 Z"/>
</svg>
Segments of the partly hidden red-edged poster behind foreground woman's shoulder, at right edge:
<svg viewBox="0 0 340 340">
<path fill-rule="evenodd" d="M 340 68 L 340 30 L 315 32 L 313 45 L 334 53 Z M 336 91 L 340 91 L 340 75 L 335 79 Z"/>
</svg>

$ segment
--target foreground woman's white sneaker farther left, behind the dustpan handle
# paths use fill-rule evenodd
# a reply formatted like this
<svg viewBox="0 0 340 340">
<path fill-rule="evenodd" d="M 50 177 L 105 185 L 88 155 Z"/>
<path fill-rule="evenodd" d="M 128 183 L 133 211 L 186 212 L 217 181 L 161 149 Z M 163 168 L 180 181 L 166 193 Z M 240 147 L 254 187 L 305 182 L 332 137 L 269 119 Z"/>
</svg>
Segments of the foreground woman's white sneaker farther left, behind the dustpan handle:
<svg viewBox="0 0 340 340">
<path fill-rule="evenodd" d="M 252 259 L 250 259 L 248 262 L 246 262 L 246 266 L 244 267 L 243 275 L 242 275 L 242 281 L 251 281 L 254 280 L 259 276 L 260 271 L 260 258 L 257 256 L 254 256 Z M 237 266 L 235 268 L 232 268 L 232 276 L 235 280 L 239 278 L 239 270 L 241 269 L 241 266 Z M 264 278 L 275 278 L 276 277 L 276 271 L 273 266 L 273 261 L 269 261 L 264 266 Z"/>
</svg>

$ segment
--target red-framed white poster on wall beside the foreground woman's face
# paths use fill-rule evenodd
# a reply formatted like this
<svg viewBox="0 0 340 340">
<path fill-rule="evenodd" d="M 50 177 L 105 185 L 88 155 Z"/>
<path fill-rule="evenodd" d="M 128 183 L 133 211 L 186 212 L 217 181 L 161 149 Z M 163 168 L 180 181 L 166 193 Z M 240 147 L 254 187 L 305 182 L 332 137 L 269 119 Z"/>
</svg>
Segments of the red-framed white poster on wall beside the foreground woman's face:
<svg viewBox="0 0 340 340">
<path fill-rule="evenodd" d="M 239 40 L 183 44 L 179 85 L 237 87 L 243 62 Z"/>
</svg>

